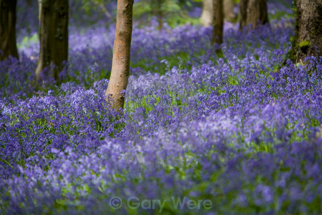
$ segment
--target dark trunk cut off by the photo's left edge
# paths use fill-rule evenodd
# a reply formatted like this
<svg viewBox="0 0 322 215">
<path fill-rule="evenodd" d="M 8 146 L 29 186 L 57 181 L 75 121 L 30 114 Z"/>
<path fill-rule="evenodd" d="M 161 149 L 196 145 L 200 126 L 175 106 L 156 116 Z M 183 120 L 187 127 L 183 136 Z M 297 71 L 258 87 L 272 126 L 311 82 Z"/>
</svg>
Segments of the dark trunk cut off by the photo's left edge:
<svg viewBox="0 0 322 215">
<path fill-rule="evenodd" d="M 16 44 L 17 0 L 0 0 L 0 60 L 18 58 Z"/>
</svg>

